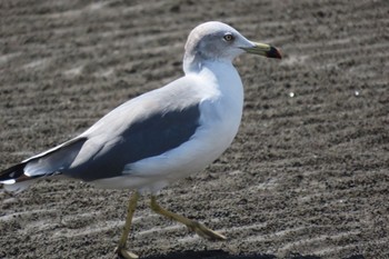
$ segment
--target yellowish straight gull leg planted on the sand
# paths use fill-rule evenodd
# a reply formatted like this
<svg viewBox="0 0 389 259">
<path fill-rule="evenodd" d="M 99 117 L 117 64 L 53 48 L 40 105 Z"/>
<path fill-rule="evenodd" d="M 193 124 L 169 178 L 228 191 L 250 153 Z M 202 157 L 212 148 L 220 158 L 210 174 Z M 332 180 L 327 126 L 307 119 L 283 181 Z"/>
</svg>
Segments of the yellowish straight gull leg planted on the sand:
<svg viewBox="0 0 389 259">
<path fill-rule="evenodd" d="M 119 240 L 119 245 L 114 250 L 114 253 L 117 253 L 119 257 L 122 257 L 126 259 L 139 258 L 137 255 L 134 255 L 126 249 L 126 242 L 128 239 L 128 235 L 130 233 L 132 216 L 133 216 L 133 212 L 136 211 L 138 199 L 139 199 L 139 193 L 138 193 L 138 191 L 134 191 L 130 198 L 129 203 L 128 203 L 127 218 L 126 218 L 126 225 L 124 225 L 123 232 L 122 232 L 121 238 Z"/>
</svg>

